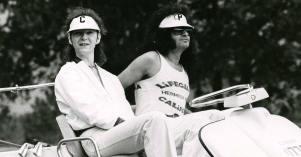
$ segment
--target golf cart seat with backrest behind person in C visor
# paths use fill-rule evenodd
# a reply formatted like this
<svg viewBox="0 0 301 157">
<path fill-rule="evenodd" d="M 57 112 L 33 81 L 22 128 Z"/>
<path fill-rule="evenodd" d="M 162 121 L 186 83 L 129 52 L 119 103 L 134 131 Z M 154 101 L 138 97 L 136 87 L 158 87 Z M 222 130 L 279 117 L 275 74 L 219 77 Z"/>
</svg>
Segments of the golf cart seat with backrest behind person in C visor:
<svg viewBox="0 0 301 157">
<path fill-rule="evenodd" d="M 131 105 L 132 109 L 135 110 L 135 105 Z M 60 130 L 62 132 L 62 135 L 64 138 L 74 138 L 77 137 L 74 130 L 68 123 L 65 114 L 61 114 L 56 117 L 56 120 L 58 122 L 58 125 L 60 127 Z M 73 155 L 73 157 L 82 157 L 82 156 L 88 156 L 83 149 L 80 141 L 70 141 L 66 142 L 68 151 Z M 133 153 L 133 154 L 120 154 L 120 155 L 114 155 L 114 157 L 138 157 L 139 153 Z"/>
</svg>

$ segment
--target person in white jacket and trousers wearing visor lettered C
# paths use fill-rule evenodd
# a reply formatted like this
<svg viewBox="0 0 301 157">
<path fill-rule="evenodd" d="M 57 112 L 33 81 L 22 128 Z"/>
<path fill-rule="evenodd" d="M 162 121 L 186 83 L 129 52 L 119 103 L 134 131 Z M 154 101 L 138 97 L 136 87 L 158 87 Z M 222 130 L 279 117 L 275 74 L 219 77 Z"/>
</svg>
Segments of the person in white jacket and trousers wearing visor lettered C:
<svg viewBox="0 0 301 157">
<path fill-rule="evenodd" d="M 117 76 L 100 67 L 106 61 L 101 42 L 106 29 L 98 14 L 75 8 L 65 29 L 70 44 L 65 49 L 67 63 L 55 79 L 55 95 L 76 134 L 95 138 L 102 156 L 143 148 L 147 156 L 177 156 L 165 114 L 134 116 Z M 96 155 L 91 141 L 82 145 L 89 156 Z"/>
</svg>

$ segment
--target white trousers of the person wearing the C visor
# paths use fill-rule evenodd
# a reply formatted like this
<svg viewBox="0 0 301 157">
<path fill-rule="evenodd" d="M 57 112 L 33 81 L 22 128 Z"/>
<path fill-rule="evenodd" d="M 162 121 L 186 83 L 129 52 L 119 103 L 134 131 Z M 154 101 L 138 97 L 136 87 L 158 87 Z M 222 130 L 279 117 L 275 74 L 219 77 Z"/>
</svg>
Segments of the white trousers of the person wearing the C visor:
<svg viewBox="0 0 301 157">
<path fill-rule="evenodd" d="M 93 137 L 98 143 L 101 156 L 135 153 L 143 148 L 147 157 L 177 156 L 173 134 L 166 120 L 164 113 L 152 111 L 109 130 L 93 127 L 81 136 Z M 90 140 L 81 143 L 89 156 L 97 156 Z"/>
</svg>

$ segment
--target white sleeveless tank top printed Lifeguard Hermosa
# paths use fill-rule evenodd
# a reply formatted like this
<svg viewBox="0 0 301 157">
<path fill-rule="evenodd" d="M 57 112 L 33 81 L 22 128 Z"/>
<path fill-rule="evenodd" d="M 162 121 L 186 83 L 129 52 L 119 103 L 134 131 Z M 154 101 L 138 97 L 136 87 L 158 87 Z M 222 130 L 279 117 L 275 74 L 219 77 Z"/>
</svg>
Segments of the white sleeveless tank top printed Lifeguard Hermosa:
<svg viewBox="0 0 301 157">
<path fill-rule="evenodd" d="M 135 82 L 136 115 L 149 111 L 162 111 L 167 115 L 184 115 L 189 95 L 186 71 L 173 68 L 160 54 L 161 68 L 153 77 Z"/>
</svg>

